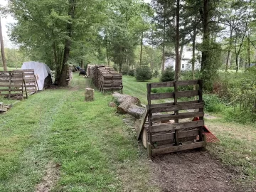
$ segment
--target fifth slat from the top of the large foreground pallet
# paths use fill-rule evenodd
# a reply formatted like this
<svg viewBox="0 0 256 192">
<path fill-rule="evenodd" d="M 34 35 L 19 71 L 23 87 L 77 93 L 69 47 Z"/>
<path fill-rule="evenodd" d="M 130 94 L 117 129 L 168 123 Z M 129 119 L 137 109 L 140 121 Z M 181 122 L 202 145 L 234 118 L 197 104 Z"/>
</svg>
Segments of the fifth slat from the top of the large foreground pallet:
<svg viewBox="0 0 256 192">
<path fill-rule="evenodd" d="M 178 129 L 188 129 L 204 126 L 204 121 L 196 122 L 183 122 L 183 123 L 174 123 L 174 124 L 153 124 L 151 127 L 151 132 L 167 132 Z"/>
</svg>

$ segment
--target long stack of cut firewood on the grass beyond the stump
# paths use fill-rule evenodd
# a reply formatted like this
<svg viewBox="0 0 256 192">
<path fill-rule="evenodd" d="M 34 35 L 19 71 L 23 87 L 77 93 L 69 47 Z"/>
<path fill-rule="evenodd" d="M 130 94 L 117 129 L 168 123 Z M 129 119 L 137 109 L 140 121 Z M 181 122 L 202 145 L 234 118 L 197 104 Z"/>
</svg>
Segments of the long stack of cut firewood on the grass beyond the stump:
<svg viewBox="0 0 256 192">
<path fill-rule="evenodd" d="M 105 65 L 88 65 L 87 76 L 92 78 L 94 85 L 101 91 L 122 90 L 122 74 Z"/>
</svg>

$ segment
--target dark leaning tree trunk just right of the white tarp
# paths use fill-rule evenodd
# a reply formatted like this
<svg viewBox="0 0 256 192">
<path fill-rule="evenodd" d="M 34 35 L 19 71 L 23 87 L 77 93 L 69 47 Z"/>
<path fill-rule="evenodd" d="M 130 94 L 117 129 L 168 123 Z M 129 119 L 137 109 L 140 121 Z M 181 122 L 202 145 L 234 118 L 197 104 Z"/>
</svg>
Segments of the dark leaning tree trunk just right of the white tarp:
<svg viewBox="0 0 256 192">
<path fill-rule="evenodd" d="M 73 18 L 75 18 L 75 3 L 76 0 L 69 0 L 69 9 L 68 9 L 68 16 L 71 16 L 71 21 L 67 24 L 67 32 L 68 37 L 65 40 L 65 48 L 64 48 L 64 55 L 63 55 L 63 66 L 60 73 L 60 78 L 58 81 L 59 86 L 67 86 L 67 73 L 68 73 L 68 58 L 70 55 L 70 47 L 71 47 L 71 38 L 73 36 Z"/>
</svg>

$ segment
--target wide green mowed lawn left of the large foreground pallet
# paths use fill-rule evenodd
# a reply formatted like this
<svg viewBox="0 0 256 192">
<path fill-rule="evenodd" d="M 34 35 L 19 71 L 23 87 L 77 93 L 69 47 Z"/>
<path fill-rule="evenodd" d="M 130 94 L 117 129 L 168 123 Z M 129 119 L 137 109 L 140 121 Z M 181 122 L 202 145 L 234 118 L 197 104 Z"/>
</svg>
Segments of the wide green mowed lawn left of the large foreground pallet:
<svg viewBox="0 0 256 192">
<path fill-rule="evenodd" d="M 112 96 L 95 91 L 95 101 L 84 102 L 89 80 L 74 76 L 70 87 L 39 92 L 1 115 L 0 191 L 35 191 L 51 161 L 60 164 L 52 191 L 159 191 L 145 151 L 107 106 Z"/>
</svg>

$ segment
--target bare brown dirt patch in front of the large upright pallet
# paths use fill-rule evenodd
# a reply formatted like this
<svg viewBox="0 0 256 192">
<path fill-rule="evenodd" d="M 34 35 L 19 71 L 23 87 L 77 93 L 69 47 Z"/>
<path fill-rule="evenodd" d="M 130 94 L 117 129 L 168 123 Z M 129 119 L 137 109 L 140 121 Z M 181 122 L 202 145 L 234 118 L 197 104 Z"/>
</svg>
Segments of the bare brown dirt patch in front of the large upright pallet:
<svg viewBox="0 0 256 192">
<path fill-rule="evenodd" d="M 207 151 L 186 151 L 159 156 L 152 163 L 154 183 L 163 192 L 253 191 L 235 181 L 243 176 L 225 168 Z"/>
</svg>

